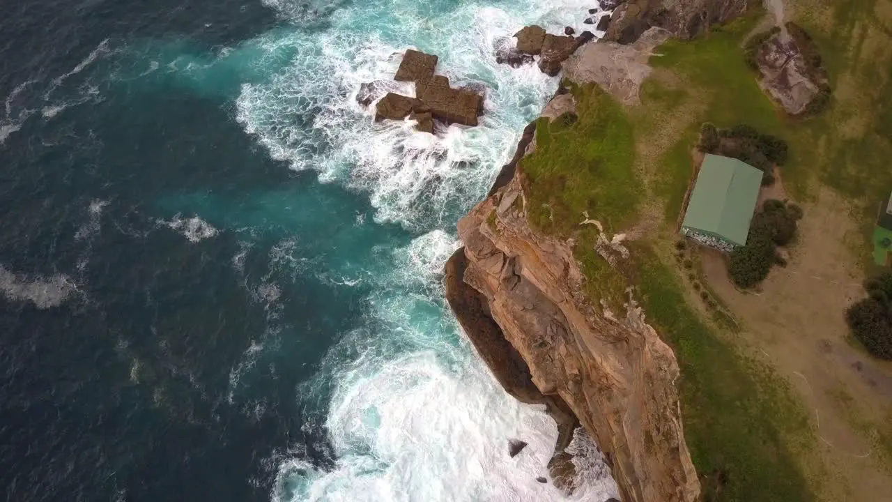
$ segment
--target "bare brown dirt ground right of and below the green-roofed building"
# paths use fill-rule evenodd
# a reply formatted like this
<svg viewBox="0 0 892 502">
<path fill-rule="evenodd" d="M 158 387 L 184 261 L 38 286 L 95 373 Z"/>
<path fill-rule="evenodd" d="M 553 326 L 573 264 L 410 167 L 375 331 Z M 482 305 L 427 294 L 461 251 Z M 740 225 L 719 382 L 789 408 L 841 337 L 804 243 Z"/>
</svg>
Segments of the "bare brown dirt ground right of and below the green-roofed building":
<svg viewBox="0 0 892 502">
<path fill-rule="evenodd" d="M 704 251 L 709 286 L 729 305 L 756 356 L 786 377 L 813 415 L 818 455 L 829 476 L 822 499 L 879 500 L 892 493 L 888 420 L 892 416 L 892 367 L 847 341 L 843 313 L 863 295 L 861 272 L 847 247 L 857 229 L 847 205 L 822 190 L 805 206 L 789 265 L 776 268 L 755 294 L 736 289 L 723 255 Z"/>
</svg>

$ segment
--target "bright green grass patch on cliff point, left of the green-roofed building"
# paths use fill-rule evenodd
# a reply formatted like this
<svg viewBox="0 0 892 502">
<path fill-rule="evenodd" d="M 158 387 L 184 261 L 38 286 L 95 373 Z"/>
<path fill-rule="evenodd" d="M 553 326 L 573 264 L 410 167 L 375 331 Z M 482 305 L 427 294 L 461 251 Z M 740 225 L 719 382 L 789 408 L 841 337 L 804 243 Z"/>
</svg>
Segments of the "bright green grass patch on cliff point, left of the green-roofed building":
<svg viewBox="0 0 892 502">
<path fill-rule="evenodd" d="M 569 126 L 540 119 L 535 152 L 520 162 L 528 216 L 540 230 L 576 239 L 574 255 L 589 297 L 618 308 L 626 285 L 623 272 L 595 252 L 598 230 L 579 223 L 587 212 L 612 236 L 612 230 L 634 219 L 641 185 L 632 169 L 632 124 L 622 106 L 596 86 L 571 88 L 579 119 Z"/>
</svg>

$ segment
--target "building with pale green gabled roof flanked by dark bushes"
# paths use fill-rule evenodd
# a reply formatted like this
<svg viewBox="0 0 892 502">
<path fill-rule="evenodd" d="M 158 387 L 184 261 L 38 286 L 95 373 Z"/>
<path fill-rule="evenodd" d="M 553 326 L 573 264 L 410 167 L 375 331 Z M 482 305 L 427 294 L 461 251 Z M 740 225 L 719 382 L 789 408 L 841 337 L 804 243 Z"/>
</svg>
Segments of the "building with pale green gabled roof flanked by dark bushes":
<svg viewBox="0 0 892 502">
<path fill-rule="evenodd" d="M 723 251 L 747 244 L 762 172 L 737 159 L 706 154 L 681 233 Z"/>
</svg>

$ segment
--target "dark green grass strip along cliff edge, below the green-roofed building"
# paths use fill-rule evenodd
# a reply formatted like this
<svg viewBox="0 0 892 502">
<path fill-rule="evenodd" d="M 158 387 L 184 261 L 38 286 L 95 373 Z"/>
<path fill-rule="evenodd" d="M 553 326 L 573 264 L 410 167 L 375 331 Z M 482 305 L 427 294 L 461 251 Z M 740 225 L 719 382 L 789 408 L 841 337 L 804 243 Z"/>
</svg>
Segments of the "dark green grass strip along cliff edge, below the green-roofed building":
<svg viewBox="0 0 892 502">
<path fill-rule="evenodd" d="M 681 366 L 685 438 L 704 500 L 814 500 L 789 450 L 791 442 L 801 448 L 811 444 L 807 417 L 789 389 L 699 320 L 675 275 L 653 251 L 635 251 L 648 321 Z"/>
</svg>

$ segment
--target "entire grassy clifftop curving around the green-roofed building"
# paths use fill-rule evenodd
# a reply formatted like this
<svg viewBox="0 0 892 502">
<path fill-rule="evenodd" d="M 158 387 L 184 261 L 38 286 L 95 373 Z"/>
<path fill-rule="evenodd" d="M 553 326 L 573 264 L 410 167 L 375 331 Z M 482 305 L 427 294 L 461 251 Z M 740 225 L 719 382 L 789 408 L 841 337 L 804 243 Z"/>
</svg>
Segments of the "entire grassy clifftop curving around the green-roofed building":
<svg viewBox="0 0 892 502">
<path fill-rule="evenodd" d="M 750 13 L 696 40 L 658 47 L 641 105 L 574 87 L 578 121 L 541 120 L 535 154 L 521 164 L 531 221 L 576 239 L 591 298 L 620 301 L 635 286 L 650 322 L 673 346 L 686 438 L 710 501 L 815 500 L 824 483 L 836 481 L 821 479 L 813 425 L 788 382 L 745 356 L 733 330 L 690 303 L 674 270 L 674 222 L 700 124 L 748 124 L 784 138 L 788 192 L 809 200 L 823 185 L 835 188 L 865 235 L 876 201 L 892 188 L 892 3 L 804 0 L 794 7 L 830 74 L 833 99 L 822 114 L 786 116 L 758 87 L 742 46 L 763 13 Z M 579 224 L 582 212 L 607 231 L 651 223 L 632 243 L 628 270 L 594 253 L 597 232 Z"/>
</svg>

